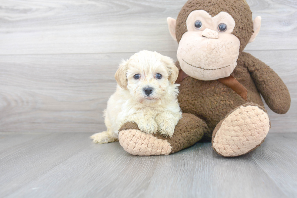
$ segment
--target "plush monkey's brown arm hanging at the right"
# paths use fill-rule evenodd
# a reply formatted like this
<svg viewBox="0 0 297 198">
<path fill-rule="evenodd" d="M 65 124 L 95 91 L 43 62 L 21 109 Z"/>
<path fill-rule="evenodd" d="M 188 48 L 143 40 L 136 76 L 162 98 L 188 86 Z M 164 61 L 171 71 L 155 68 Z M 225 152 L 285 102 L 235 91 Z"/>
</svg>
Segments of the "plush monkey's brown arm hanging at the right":
<svg viewBox="0 0 297 198">
<path fill-rule="evenodd" d="M 269 108 L 278 114 L 288 112 L 291 97 L 282 79 L 268 65 L 251 54 L 242 52 L 238 61 L 249 70 L 257 89 Z"/>
</svg>

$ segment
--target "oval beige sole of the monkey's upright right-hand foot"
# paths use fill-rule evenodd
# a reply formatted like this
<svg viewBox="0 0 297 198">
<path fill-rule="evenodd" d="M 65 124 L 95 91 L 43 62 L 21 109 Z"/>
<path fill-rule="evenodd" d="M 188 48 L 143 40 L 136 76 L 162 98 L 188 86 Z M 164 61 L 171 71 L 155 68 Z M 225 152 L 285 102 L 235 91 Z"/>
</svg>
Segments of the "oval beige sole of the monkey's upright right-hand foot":
<svg viewBox="0 0 297 198">
<path fill-rule="evenodd" d="M 212 147 L 225 157 L 246 154 L 259 146 L 270 128 L 267 113 L 257 105 L 243 105 L 215 128 Z"/>
</svg>

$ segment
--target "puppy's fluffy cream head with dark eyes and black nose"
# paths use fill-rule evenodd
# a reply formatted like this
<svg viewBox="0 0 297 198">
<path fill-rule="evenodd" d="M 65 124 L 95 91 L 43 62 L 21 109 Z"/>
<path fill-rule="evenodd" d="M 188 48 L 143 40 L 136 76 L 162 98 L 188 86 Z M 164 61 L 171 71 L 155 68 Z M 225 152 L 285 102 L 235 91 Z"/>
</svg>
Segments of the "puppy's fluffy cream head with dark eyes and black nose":
<svg viewBox="0 0 297 198">
<path fill-rule="evenodd" d="M 141 103 L 153 103 L 168 96 L 179 70 L 173 60 L 157 52 L 140 51 L 122 61 L 115 73 L 120 87 Z"/>
</svg>

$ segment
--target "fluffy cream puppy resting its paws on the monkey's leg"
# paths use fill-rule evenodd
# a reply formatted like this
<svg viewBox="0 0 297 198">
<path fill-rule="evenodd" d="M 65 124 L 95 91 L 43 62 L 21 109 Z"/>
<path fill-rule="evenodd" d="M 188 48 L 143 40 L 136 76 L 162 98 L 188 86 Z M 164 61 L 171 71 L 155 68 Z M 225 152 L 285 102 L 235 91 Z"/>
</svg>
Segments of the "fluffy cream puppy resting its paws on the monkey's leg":
<svg viewBox="0 0 297 198">
<path fill-rule="evenodd" d="M 122 61 L 115 73 L 118 83 L 104 111 L 107 131 L 91 136 L 96 143 L 118 141 L 118 130 L 135 122 L 143 132 L 172 136 L 182 113 L 175 83 L 179 70 L 172 59 L 140 51 Z"/>
</svg>

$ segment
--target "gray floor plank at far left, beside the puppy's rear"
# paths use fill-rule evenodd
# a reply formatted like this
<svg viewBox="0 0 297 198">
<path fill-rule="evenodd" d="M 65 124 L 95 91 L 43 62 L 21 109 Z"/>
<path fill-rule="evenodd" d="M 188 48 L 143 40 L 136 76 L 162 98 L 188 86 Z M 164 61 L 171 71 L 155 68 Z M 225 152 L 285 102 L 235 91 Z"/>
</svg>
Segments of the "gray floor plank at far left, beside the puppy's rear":
<svg viewBox="0 0 297 198">
<path fill-rule="evenodd" d="M 42 134 L 42 133 L 40 133 Z M 0 153 L 0 196 L 15 192 L 20 186 L 46 173 L 69 157 L 87 147 L 92 141 L 88 133 L 51 133 L 34 137 Z M 12 140 L 21 141 L 22 136 L 11 133 Z"/>
</svg>

